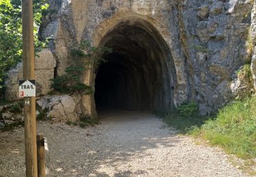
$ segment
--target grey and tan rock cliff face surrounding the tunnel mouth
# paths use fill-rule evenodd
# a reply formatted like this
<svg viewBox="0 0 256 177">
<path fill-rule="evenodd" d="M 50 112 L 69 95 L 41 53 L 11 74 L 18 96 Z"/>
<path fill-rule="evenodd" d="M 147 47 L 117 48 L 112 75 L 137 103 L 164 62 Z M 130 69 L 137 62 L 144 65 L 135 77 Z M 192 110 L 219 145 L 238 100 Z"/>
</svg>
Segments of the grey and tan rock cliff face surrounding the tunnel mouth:
<svg viewBox="0 0 256 177">
<path fill-rule="evenodd" d="M 253 52 L 247 48 L 250 27 L 253 46 L 256 42 L 254 1 L 49 2 L 50 11 L 43 20 L 41 35 L 53 39 L 51 51 L 57 60 L 57 75 L 72 63 L 69 51 L 74 45 L 87 40 L 99 46 L 120 24 L 135 25 L 158 38 L 156 42 L 161 38 L 161 50 L 170 54 L 166 62 L 169 71 L 175 72 L 171 81 L 173 103 L 177 106 L 195 100 L 201 114 L 217 110 L 233 97 L 231 80 L 236 80 L 235 71 Z M 254 80 L 255 58 L 253 54 Z M 94 68 L 85 73 L 84 82 L 94 86 L 95 78 Z M 96 116 L 94 95 L 76 95 L 74 99 L 77 109 Z"/>
</svg>

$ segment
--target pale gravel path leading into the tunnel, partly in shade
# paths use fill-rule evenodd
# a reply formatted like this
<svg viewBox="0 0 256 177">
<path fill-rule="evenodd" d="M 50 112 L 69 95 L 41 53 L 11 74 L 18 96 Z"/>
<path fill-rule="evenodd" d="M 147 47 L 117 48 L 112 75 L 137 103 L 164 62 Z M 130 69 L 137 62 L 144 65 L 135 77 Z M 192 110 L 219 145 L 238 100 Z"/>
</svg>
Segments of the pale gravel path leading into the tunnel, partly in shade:
<svg viewBox="0 0 256 177">
<path fill-rule="evenodd" d="M 48 138 L 53 176 L 246 176 L 218 148 L 177 135 L 152 114 L 100 117 L 100 125 L 87 129 L 38 123 Z M 25 176 L 23 134 L 23 128 L 1 132 L 0 176 Z"/>
</svg>

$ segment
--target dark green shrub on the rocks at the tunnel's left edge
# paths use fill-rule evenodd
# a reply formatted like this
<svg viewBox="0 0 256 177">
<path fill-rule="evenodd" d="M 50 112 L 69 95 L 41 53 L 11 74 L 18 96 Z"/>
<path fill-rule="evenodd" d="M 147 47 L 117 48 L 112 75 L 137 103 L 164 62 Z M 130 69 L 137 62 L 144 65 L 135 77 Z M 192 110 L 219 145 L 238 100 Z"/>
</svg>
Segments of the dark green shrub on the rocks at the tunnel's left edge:
<svg viewBox="0 0 256 177">
<path fill-rule="evenodd" d="M 91 65 L 98 65 L 104 62 L 102 54 L 111 52 L 109 48 L 96 48 L 90 42 L 81 42 L 78 48 L 73 48 L 70 54 L 73 55 L 74 65 L 66 68 L 66 74 L 53 78 L 51 88 L 59 93 L 74 93 L 76 91 L 85 95 L 92 93 L 91 86 L 81 82 L 81 76 Z"/>
</svg>

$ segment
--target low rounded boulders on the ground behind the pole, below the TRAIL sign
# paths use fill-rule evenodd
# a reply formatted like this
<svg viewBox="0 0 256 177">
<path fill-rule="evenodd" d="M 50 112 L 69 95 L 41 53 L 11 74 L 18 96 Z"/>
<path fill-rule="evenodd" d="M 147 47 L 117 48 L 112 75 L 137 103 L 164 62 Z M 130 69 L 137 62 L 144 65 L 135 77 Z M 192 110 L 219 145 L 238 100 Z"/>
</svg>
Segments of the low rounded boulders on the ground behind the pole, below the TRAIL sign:
<svg viewBox="0 0 256 177">
<path fill-rule="evenodd" d="M 75 98 L 79 98 L 76 95 Z M 52 122 L 76 122 L 79 120 L 81 110 L 79 101 L 74 101 L 70 95 L 46 95 L 39 98 L 36 103 L 36 117 L 40 120 L 50 120 Z M 0 129 L 5 126 L 21 124 L 24 121 L 23 101 L 16 101 L 0 106 Z"/>
</svg>

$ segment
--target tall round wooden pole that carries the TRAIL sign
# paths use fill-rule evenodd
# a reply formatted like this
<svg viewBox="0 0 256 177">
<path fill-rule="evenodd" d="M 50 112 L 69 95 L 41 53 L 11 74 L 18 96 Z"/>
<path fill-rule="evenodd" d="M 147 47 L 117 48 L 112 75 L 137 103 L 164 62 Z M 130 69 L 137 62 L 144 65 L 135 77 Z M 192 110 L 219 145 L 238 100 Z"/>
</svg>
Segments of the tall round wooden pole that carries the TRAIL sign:
<svg viewBox="0 0 256 177">
<path fill-rule="evenodd" d="M 33 0 L 22 0 L 23 18 L 23 77 L 35 79 L 35 59 L 33 48 Z M 35 97 L 25 97 L 25 157 L 26 176 L 37 177 Z"/>
</svg>

